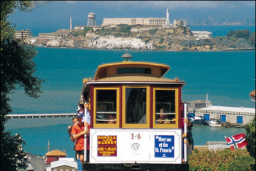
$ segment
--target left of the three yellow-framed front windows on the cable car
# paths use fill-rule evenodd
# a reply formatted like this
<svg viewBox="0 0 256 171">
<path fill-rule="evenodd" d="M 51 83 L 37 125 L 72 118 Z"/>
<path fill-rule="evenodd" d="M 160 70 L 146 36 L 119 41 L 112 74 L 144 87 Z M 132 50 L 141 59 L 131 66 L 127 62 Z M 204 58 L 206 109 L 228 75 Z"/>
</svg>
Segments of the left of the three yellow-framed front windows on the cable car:
<svg viewBox="0 0 256 171">
<path fill-rule="evenodd" d="M 116 90 L 97 90 L 96 123 L 116 124 Z"/>
</svg>

